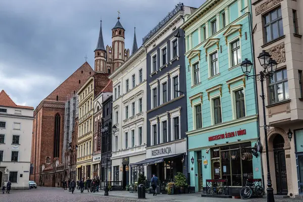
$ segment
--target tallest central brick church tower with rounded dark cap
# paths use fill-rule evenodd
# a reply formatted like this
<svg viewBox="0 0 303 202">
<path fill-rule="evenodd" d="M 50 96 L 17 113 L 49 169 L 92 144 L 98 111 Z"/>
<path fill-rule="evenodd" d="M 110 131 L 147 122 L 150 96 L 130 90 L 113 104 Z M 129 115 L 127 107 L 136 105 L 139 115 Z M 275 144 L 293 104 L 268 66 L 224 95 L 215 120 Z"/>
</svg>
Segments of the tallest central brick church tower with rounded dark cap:
<svg viewBox="0 0 303 202">
<path fill-rule="evenodd" d="M 115 71 L 124 61 L 129 57 L 129 49 L 125 49 L 124 45 L 125 29 L 120 23 L 120 17 L 118 22 L 112 29 L 112 48 L 113 48 L 113 70 Z"/>
</svg>

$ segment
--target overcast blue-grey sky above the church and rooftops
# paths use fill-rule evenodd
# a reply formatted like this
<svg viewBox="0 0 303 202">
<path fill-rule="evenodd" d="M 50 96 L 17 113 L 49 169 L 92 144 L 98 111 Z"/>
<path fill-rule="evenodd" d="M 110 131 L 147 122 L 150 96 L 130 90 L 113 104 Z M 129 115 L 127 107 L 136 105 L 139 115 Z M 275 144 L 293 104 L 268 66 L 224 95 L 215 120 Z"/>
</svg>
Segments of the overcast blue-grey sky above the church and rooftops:
<svg viewBox="0 0 303 202">
<path fill-rule="evenodd" d="M 185 0 L 199 7 L 205 0 Z M 133 28 L 138 46 L 142 37 L 179 0 L 1 0 L 0 91 L 18 105 L 34 108 L 85 62 L 93 67 L 100 18 L 105 45 L 117 22 L 125 28 L 125 47 L 131 51 Z"/>
</svg>

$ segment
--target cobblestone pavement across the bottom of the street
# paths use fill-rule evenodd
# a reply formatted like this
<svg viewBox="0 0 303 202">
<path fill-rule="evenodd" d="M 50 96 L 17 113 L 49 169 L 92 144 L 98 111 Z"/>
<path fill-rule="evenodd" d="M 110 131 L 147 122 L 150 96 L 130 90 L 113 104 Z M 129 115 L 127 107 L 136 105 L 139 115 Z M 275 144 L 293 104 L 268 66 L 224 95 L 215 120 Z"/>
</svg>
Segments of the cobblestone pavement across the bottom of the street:
<svg viewBox="0 0 303 202">
<path fill-rule="evenodd" d="M 110 192 L 110 196 L 104 196 L 104 192 L 98 193 L 80 193 L 79 190 L 75 190 L 74 194 L 68 190 L 63 190 L 62 188 L 50 188 L 50 187 L 38 187 L 37 189 L 32 190 L 12 190 L 10 194 L 0 193 L 1 202 L 134 202 L 134 201 L 153 201 L 153 202 L 163 202 L 163 201 L 172 201 L 172 202 L 237 202 L 237 201 L 249 201 L 249 202 L 265 202 L 266 198 L 255 198 L 248 200 L 241 199 L 230 199 L 230 198 L 210 198 L 210 197 L 200 197 L 198 194 L 180 194 L 180 195 L 167 195 L 160 194 L 155 197 L 148 194 L 146 199 L 137 199 L 135 195 L 133 197 L 128 196 L 114 196 L 115 191 Z M 277 198 L 276 202 L 302 202 L 301 199 L 292 199 L 292 198 Z"/>
</svg>

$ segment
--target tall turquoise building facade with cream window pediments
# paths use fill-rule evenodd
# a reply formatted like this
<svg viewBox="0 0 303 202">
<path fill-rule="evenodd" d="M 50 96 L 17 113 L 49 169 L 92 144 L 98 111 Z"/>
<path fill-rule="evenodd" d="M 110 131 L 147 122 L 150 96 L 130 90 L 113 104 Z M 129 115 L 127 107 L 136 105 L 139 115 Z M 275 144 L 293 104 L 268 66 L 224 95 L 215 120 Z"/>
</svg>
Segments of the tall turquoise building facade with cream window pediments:
<svg viewBox="0 0 303 202">
<path fill-rule="evenodd" d="M 256 84 L 241 62 L 252 63 L 249 0 L 208 0 L 184 16 L 190 186 L 227 179 L 239 195 L 246 179 L 262 179 Z"/>
</svg>

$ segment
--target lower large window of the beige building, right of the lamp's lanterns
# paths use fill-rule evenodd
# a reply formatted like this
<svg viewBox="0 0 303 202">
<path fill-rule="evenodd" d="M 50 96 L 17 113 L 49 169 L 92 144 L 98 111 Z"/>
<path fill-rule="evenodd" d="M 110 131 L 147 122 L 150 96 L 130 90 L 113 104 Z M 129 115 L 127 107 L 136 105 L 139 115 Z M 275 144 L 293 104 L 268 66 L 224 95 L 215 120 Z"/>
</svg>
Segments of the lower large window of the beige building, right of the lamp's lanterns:
<svg viewBox="0 0 303 202">
<path fill-rule="evenodd" d="M 277 71 L 270 79 L 269 103 L 274 104 L 289 98 L 287 70 Z"/>
</svg>

